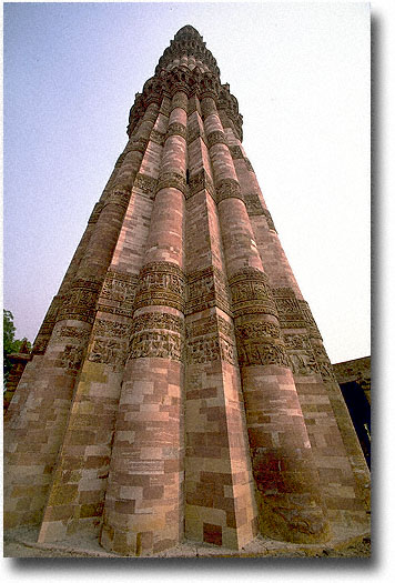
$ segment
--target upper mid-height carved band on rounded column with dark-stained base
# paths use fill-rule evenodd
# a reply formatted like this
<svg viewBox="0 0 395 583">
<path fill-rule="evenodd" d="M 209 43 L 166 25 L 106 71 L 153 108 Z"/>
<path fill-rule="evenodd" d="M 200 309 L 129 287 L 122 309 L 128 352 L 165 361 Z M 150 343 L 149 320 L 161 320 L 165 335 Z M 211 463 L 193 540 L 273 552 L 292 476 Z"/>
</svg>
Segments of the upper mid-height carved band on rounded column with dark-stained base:
<svg viewBox="0 0 395 583">
<path fill-rule="evenodd" d="M 246 313 L 276 315 L 267 275 L 254 268 L 244 268 L 229 280 L 235 318 Z"/>
</svg>

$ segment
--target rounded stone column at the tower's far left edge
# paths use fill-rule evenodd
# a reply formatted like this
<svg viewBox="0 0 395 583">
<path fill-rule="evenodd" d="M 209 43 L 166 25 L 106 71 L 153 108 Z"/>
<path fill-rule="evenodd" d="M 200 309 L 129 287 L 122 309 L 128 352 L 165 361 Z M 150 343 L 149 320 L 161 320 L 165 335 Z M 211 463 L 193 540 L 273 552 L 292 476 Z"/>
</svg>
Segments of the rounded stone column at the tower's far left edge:
<svg viewBox="0 0 395 583">
<path fill-rule="evenodd" d="M 89 238 L 85 238 L 84 249 L 81 248 L 81 253 L 72 262 L 70 278 L 65 278 L 65 293 L 61 296 L 60 305 L 53 310 L 55 323 L 45 352 L 43 356 L 34 356 L 28 364 L 19 383 L 18 395 L 9 406 L 4 440 L 4 487 L 10 502 L 4 523 L 10 527 L 42 520 L 74 396 L 75 380 L 80 374 L 95 316 L 99 292 L 122 225 L 130 198 L 129 188 L 141 158 L 142 154 L 129 167 L 129 182 L 125 183 L 123 173 L 122 183 L 114 181 L 102 209 L 97 208 L 95 224 Z M 75 439 L 81 439 L 81 435 L 82 431 Z M 67 490 L 65 499 L 63 493 L 53 493 L 55 505 L 64 503 L 64 500 L 68 503 L 75 500 L 78 485 L 73 483 Z M 55 529 L 41 530 L 42 540 L 53 540 L 62 534 L 58 511 Z"/>
</svg>

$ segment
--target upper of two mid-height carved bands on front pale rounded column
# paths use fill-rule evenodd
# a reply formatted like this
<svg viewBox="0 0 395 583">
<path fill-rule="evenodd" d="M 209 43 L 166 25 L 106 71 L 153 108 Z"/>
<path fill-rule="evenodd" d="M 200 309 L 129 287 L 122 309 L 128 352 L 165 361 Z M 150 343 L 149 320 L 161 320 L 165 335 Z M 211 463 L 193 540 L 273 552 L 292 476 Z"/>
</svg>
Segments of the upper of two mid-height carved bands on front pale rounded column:
<svg viewBox="0 0 395 583">
<path fill-rule="evenodd" d="M 134 309 L 143 305 L 169 305 L 183 312 L 185 284 L 186 278 L 175 263 L 149 263 L 140 271 Z"/>
</svg>

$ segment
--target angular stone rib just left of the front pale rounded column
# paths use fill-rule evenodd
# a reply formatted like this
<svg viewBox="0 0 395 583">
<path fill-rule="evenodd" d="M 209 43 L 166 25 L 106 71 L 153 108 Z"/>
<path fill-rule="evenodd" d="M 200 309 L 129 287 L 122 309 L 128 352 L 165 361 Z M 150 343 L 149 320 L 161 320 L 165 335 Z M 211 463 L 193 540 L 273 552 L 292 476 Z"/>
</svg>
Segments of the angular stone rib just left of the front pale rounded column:
<svg viewBox="0 0 395 583">
<path fill-rule="evenodd" d="M 150 138 L 158 113 L 159 107 L 151 104 L 139 125 L 138 140 Z M 136 171 L 142 170 L 146 158 L 151 158 L 149 149 L 144 154 L 133 149 L 132 137 L 114 179 L 115 184 L 128 181 L 134 183 Z M 133 270 L 139 271 L 141 267 L 141 261 L 136 265 L 131 261 L 125 235 L 122 237 L 122 233 L 126 231 L 129 237 L 133 237 L 138 231 L 140 238 L 144 238 L 144 232 L 146 237 L 148 228 L 142 230 L 141 214 L 150 213 L 152 201 L 135 192 L 133 188 L 112 254 L 111 269 L 107 272 L 99 295 L 98 313 L 87 356 L 81 364 L 81 374 L 40 532 L 42 542 L 72 535 L 81 530 L 99 534 L 115 413 L 131 330 L 131 310 L 136 285 Z M 135 241 L 135 247 L 136 243 Z M 133 255 L 133 259 L 136 261 L 139 255 Z M 68 471 L 72 466 L 78 468 L 78 471 Z M 75 487 L 78 490 L 73 499 L 64 504 L 63 493 Z"/>
</svg>

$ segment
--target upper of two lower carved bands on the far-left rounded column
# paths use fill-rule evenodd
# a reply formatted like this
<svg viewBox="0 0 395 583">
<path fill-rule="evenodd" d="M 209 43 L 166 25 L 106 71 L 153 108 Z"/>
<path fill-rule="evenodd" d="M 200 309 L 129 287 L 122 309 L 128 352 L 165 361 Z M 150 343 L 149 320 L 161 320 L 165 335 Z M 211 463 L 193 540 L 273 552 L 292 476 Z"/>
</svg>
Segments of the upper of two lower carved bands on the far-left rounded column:
<svg viewBox="0 0 395 583">
<path fill-rule="evenodd" d="M 61 320 L 82 320 L 93 323 L 100 283 L 89 280 L 77 280 L 64 295 L 62 305 L 57 315 Z"/>
</svg>

